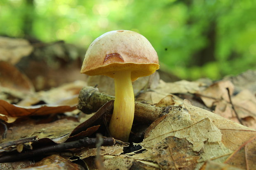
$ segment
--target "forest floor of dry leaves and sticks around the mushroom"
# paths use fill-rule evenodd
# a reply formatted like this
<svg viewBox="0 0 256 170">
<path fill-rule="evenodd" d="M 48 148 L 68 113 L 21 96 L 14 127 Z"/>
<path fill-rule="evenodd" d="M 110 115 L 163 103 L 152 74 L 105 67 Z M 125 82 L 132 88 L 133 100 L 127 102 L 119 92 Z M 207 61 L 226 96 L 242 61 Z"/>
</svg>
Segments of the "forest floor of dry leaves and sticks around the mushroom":
<svg viewBox="0 0 256 170">
<path fill-rule="evenodd" d="M 81 75 L 84 54 L 0 37 L 0 169 L 256 167 L 256 70 L 218 81 L 139 78 L 122 142 L 108 131 L 114 81 Z"/>
</svg>

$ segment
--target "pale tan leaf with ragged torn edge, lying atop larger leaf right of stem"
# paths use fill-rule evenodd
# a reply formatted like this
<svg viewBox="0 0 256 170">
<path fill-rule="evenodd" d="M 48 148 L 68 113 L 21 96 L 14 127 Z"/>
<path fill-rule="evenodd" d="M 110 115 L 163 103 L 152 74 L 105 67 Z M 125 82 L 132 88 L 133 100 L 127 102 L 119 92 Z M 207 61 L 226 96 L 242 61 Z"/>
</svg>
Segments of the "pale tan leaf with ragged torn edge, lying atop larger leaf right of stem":
<svg viewBox="0 0 256 170">
<path fill-rule="evenodd" d="M 199 119 L 193 123 L 190 115 L 185 110 L 180 110 L 176 114 L 168 114 L 140 144 L 145 148 L 152 148 L 156 142 L 168 136 L 186 138 L 193 144 L 194 151 L 200 151 L 205 141 L 221 141 L 220 130 L 211 123 L 210 119 Z"/>
</svg>

